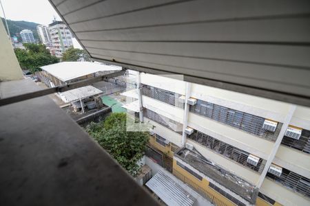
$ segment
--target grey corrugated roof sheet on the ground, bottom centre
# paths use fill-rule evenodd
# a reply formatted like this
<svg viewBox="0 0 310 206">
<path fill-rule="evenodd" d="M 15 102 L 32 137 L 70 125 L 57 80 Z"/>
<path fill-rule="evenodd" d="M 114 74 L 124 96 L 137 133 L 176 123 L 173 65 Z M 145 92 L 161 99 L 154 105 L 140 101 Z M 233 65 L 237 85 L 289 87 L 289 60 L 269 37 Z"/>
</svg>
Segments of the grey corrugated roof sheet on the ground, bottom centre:
<svg viewBox="0 0 310 206">
<path fill-rule="evenodd" d="M 191 206 L 196 201 L 178 183 L 174 182 L 161 171 L 158 171 L 145 185 L 167 205 Z"/>
</svg>

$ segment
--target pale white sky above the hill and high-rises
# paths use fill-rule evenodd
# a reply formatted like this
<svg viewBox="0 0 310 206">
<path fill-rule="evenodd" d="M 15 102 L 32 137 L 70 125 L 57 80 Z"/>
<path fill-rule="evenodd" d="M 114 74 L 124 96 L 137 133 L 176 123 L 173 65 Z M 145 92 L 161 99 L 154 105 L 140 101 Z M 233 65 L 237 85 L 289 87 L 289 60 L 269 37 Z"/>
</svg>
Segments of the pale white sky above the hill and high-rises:
<svg viewBox="0 0 310 206">
<path fill-rule="evenodd" d="M 61 20 L 48 0 L 0 0 L 6 12 L 6 19 L 32 21 L 43 25 L 52 23 L 54 16 Z M 0 16 L 3 12 L 0 10 Z"/>
</svg>

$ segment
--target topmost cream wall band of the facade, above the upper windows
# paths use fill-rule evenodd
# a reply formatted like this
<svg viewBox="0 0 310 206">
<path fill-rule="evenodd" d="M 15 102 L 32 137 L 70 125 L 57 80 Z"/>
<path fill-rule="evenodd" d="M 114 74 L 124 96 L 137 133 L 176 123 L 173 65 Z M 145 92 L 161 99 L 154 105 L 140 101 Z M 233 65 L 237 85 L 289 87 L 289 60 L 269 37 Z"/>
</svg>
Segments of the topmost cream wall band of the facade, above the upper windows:
<svg viewBox="0 0 310 206">
<path fill-rule="evenodd" d="M 169 76 L 163 77 L 141 73 L 141 82 L 153 87 L 185 95 L 185 82 L 167 77 Z M 277 122 L 284 121 L 289 111 L 289 106 L 291 105 L 285 102 L 207 87 L 201 84 L 192 84 L 191 97 L 267 119 L 273 119 Z M 290 124 L 310 130 L 310 108 L 297 106 Z"/>
</svg>

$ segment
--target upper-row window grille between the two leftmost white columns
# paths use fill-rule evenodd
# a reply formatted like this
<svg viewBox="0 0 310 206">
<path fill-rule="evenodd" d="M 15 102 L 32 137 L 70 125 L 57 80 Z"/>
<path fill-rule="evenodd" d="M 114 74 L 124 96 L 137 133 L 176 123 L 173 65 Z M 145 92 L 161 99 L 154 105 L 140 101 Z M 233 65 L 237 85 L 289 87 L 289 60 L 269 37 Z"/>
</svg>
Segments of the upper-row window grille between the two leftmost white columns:
<svg viewBox="0 0 310 206">
<path fill-rule="evenodd" d="M 142 94 L 149 98 L 165 102 L 172 106 L 178 106 L 181 108 L 184 106 L 183 103 L 178 102 L 178 98 L 181 96 L 178 93 L 174 93 L 164 89 L 159 89 L 156 87 L 151 87 L 146 84 L 141 84 L 141 86 L 142 86 Z"/>
</svg>

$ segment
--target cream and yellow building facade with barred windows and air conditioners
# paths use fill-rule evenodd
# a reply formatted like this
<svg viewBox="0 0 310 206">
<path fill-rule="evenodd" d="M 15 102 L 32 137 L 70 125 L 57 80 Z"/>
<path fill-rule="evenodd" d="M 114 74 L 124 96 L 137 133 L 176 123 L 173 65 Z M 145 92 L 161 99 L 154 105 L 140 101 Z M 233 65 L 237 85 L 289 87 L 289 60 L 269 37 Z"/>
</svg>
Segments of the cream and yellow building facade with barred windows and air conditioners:
<svg viewBox="0 0 310 206">
<path fill-rule="evenodd" d="M 309 108 L 145 73 L 140 81 L 125 95 L 141 97 L 150 142 L 173 158 L 175 176 L 216 205 L 309 205 Z"/>
</svg>

